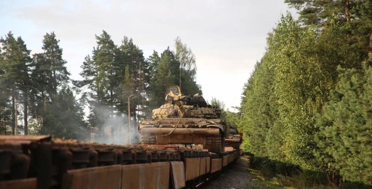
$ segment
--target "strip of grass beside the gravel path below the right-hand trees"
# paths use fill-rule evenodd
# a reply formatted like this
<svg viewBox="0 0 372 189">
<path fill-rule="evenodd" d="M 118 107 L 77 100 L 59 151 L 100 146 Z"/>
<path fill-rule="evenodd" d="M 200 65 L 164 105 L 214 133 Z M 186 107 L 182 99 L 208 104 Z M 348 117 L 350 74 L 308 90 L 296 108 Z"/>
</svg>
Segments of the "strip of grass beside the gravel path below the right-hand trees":
<svg viewBox="0 0 372 189">
<path fill-rule="evenodd" d="M 248 157 L 241 157 L 241 161 L 248 164 Z M 274 177 L 264 176 L 262 171 L 248 168 L 251 176 L 248 178 L 250 183 L 246 189 L 337 189 L 336 186 L 307 185 L 300 176 L 286 177 L 276 175 Z"/>
</svg>

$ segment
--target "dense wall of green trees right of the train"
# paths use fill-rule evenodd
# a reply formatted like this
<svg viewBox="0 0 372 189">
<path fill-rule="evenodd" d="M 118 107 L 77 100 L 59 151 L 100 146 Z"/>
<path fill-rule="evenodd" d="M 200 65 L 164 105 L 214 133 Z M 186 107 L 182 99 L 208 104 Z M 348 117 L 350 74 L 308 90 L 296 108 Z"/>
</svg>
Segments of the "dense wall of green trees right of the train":
<svg viewBox="0 0 372 189">
<path fill-rule="evenodd" d="M 256 158 L 371 187 L 372 0 L 285 2 L 299 19 L 269 33 L 230 121 Z"/>
</svg>

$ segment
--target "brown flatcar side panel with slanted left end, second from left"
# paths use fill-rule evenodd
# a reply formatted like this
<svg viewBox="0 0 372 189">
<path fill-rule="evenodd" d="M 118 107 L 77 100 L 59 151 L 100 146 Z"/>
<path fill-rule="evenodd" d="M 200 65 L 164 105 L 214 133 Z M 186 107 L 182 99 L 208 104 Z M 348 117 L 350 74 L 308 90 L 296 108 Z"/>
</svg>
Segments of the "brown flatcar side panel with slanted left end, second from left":
<svg viewBox="0 0 372 189">
<path fill-rule="evenodd" d="M 68 170 L 62 188 L 120 189 L 121 165 Z"/>
</svg>

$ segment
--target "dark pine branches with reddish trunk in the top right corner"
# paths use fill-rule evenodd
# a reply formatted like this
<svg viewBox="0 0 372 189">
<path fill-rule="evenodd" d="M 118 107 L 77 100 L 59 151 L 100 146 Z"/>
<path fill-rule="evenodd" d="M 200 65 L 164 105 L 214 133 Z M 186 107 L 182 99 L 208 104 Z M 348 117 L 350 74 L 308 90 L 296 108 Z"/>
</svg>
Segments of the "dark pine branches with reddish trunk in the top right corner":
<svg viewBox="0 0 372 189">
<path fill-rule="evenodd" d="M 372 53 L 372 0 L 285 0 L 297 9 L 299 20 L 307 26 L 324 28 L 326 23 L 341 23 L 347 33 L 347 44 L 355 47 L 350 54 L 358 61 L 366 60 Z"/>
</svg>

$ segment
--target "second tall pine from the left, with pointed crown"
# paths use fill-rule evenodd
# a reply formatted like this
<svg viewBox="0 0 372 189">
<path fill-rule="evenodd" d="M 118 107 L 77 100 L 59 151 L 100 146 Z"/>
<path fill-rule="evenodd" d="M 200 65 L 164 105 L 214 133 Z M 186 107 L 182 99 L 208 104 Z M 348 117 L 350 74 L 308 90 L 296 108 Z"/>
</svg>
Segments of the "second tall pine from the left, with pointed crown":
<svg viewBox="0 0 372 189">
<path fill-rule="evenodd" d="M 65 66 L 67 62 L 62 58 L 63 50 L 55 33 L 46 33 L 42 42 L 44 52 L 34 54 L 32 57 L 34 68 L 30 85 L 33 87 L 29 103 L 32 118 L 38 120 L 39 129 L 49 125 L 45 122 L 46 107 L 54 100 L 58 87 L 70 81 L 70 73 Z"/>
</svg>

